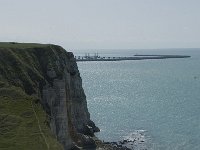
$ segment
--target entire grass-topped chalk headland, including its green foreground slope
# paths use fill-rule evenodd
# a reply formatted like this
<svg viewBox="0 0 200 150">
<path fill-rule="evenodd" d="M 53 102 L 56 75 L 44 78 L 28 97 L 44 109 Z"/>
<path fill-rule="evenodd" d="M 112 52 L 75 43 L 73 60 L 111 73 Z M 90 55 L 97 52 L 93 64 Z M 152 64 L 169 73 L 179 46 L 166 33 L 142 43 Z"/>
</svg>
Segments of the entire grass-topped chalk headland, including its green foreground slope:
<svg viewBox="0 0 200 150">
<path fill-rule="evenodd" d="M 90 120 L 73 54 L 50 44 L 0 43 L 0 123 L 0 149 L 95 147 L 91 136 L 99 129 Z M 36 133 L 39 142 L 31 142 Z M 30 145 L 16 138 L 22 134 Z"/>
</svg>

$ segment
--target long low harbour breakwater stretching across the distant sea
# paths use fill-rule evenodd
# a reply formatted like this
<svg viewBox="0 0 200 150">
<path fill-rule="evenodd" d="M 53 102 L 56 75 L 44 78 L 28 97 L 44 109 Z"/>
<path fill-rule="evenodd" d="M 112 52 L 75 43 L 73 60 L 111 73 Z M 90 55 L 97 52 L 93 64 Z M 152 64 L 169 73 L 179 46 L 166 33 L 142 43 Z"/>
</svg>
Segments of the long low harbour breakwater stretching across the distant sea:
<svg viewBox="0 0 200 150">
<path fill-rule="evenodd" d="M 122 60 L 145 60 L 145 59 L 169 59 L 189 58 L 188 55 L 134 55 L 133 57 L 81 57 L 76 56 L 76 61 L 122 61 Z"/>
</svg>

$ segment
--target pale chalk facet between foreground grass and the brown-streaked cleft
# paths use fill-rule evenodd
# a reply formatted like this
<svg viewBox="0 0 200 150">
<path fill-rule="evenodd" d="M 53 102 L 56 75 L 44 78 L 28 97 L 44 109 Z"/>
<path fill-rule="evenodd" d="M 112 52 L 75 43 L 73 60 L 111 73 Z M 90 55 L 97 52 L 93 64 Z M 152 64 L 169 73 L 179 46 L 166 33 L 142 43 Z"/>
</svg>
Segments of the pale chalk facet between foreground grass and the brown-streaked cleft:
<svg viewBox="0 0 200 150">
<path fill-rule="evenodd" d="M 51 130 L 56 135 L 58 141 L 64 145 L 64 148 L 70 149 L 73 144 L 68 125 L 65 81 L 55 79 L 53 87 L 45 86 L 43 89 L 43 100 L 49 107 Z"/>
</svg>

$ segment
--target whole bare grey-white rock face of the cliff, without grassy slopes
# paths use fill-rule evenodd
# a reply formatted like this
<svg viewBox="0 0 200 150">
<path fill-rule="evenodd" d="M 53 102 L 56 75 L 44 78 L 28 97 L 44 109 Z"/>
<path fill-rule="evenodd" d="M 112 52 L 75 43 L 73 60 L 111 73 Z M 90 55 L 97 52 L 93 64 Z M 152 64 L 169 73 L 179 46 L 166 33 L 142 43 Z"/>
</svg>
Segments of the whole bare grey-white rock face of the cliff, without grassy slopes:
<svg viewBox="0 0 200 150">
<path fill-rule="evenodd" d="M 75 59 L 67 52 L 66 57 L 57 58 L 56 69 L 61 70 L 62 78 L 56 75 L 55 68 L 50 68 L 46 74 L 51 83 L 42 88 L 42 104 L 49 115 L 50 128 L 65 150 L 75 145 L 95 146 L 88 135 L 92 136 L 98 128 L 90 120 Z"/>
</svg>

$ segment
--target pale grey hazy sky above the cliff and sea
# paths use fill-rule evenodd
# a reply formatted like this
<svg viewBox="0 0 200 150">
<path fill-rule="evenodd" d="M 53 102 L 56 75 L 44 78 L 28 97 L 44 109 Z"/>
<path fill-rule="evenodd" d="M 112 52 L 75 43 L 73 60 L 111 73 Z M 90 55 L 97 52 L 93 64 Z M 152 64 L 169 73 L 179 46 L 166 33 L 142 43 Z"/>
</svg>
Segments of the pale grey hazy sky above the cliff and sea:
<svg viewBox="0 0 200 150">
<path fill-rule="evenodd" d="M 200 0 L 0 0 L 0 41 L 66 49 L 200 47 Z"/>
</svg>

